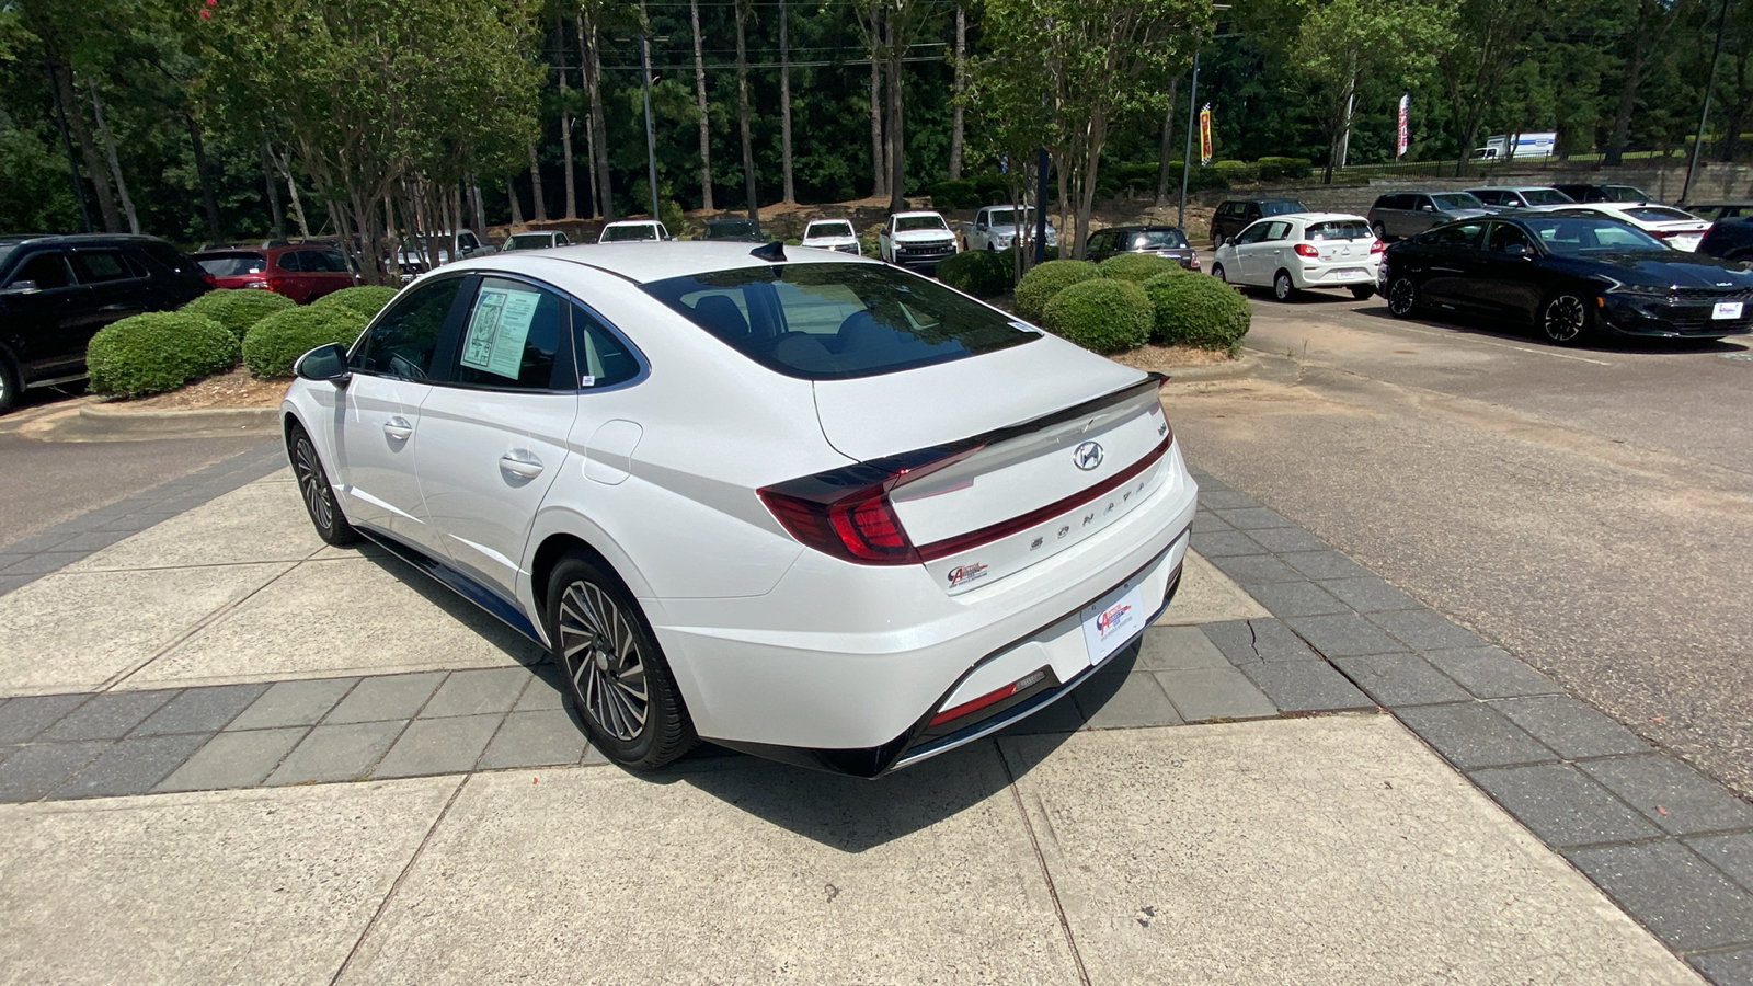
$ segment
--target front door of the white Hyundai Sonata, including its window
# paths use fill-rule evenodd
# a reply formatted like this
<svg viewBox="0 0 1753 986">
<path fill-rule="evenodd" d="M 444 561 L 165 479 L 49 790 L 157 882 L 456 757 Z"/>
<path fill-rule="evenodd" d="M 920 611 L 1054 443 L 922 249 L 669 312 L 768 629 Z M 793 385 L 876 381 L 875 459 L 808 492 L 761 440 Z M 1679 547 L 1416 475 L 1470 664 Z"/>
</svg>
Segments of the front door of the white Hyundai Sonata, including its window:
<svg viewBox="0 0 1753 986">
<path fill-rule="evenodd" d="M 349 358 L 335 405 L 335 468 L 347 518 L 442 554 L 421 498 L 415 453 L 421 405 L 440 372 L 438 344 L 458 318 L 468 277 L 426 282 L 377 316 Z"/>
</svg>

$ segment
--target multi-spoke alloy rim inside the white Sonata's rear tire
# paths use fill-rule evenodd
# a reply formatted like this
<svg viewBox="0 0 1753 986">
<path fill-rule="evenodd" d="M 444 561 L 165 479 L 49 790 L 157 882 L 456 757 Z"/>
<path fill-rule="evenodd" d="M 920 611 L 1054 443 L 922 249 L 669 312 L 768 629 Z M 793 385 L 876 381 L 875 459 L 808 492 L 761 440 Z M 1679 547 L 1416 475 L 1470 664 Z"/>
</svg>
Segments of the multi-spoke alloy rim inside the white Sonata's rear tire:
<svg viewBox="0 0 1753 986">
<path fill-rule="evenodd" d="M 571 582 L 559 602 L 559 646 L 584 714 L 617 740 L 636 739 L 650 689 L 629 616 L 601 586 Z"/>
</svg>

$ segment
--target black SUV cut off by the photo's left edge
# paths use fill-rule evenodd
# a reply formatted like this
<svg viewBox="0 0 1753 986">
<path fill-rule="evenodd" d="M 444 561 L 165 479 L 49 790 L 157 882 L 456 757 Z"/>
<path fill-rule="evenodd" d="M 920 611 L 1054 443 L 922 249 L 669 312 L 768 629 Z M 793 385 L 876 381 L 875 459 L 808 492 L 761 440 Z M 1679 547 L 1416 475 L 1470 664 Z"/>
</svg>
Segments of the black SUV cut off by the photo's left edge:
<svg viewBox="0 0 1753 986">
<path fill-rule="evenodd" d="M 0 237 L 0 412 L 21 391 L 84 379 L 105 325 L 179 309 L 212 277 L 156 237 Z"/>
</svg>

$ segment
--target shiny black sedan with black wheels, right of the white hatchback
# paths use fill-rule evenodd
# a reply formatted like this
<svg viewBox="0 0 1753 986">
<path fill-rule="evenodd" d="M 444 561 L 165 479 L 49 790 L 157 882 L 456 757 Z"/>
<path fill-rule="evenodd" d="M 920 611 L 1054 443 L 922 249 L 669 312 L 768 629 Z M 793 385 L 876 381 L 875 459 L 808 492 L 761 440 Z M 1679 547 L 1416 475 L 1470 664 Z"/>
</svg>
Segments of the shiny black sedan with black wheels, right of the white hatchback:
<svg viewBox="0 0 1753 986">
<path fill-rule="evenodd" d="M 1508 316 L 1553 342 L 1592 332 L 1721 339 L 1753 328 L 1753 272 L 1611 219 L 1534 212 L 1448 223 L 1390 246 L 1378 288 L 1397 318 Z"/>
</svg>

